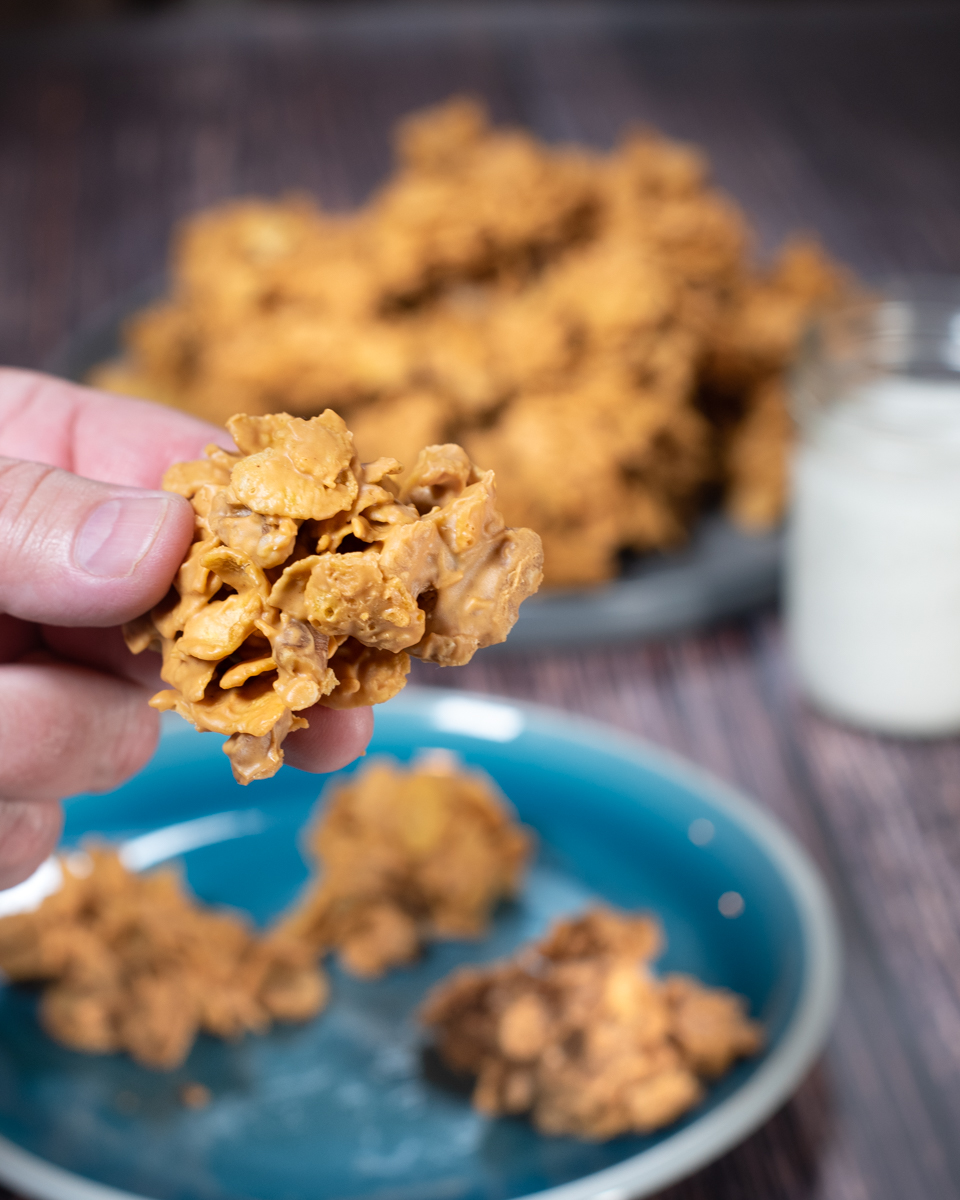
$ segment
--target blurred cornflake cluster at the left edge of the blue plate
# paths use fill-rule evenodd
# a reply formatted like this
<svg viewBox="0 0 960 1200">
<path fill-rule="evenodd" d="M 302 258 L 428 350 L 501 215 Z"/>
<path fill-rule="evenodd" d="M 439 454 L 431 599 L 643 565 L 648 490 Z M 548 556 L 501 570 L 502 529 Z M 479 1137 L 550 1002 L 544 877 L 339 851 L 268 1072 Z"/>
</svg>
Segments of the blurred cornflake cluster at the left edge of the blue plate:
<svg viewBox="0 0 960 1200">
<path fill-rule="evenodd" d="M 0 970 L 43 983 L 40 1019 L 64 1045 L 172 1069 L 200 1032 L 235 1039 L 326 1003 L 306 947 L 200 906 L 174 870 L 137 875 L 98 847 L 60 865 L 58 892 L 0 918 Z"/>
</svg>

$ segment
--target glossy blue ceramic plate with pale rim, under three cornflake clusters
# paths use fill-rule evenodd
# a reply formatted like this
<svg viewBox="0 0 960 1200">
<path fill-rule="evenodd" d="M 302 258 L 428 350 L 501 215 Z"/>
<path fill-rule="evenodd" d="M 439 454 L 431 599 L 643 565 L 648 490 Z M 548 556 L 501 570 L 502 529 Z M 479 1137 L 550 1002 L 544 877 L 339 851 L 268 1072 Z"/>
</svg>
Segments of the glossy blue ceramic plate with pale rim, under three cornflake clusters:
<svg viewBox="0 0 960 1200">
<path fill-rule="evenodd" d="M 547 709 L 410 689 L 378 710 L 374 752 L 426 746 L 487 770 L 539 834 L 527 889 L 492 936 L 434 947 L 379 983 L 334 970 L 316 1021 L 236 1045 L 202 1038 L 169 1074 L 61 1049 L 36 996 L 0 986 L 0 1177 L 43 1200 L 634 1200 L 786 1099 L 827 1036 L 840 970 L 823 883 L 779 824 L 660 751 Z M 307 877 L 298 833 L 317 791 L 294 770 L 240 788 L 220 738 L 174 719 L 136 779 L 70 802 L 65 841 L 95 830 L 127 842 L 131 863 L 180 857 L 204 900 L 268 922 Z M 766 1054 L 653 1136 L 587 1145 L 478 1116 L 433 1078 L 418 1002 L 460 964 L 598 898 L 659 913 L 662 966 L 748 996 Z M 209 1108 L 181 1106 L 187 1081 L 210 1088 Z"/>
</svg>

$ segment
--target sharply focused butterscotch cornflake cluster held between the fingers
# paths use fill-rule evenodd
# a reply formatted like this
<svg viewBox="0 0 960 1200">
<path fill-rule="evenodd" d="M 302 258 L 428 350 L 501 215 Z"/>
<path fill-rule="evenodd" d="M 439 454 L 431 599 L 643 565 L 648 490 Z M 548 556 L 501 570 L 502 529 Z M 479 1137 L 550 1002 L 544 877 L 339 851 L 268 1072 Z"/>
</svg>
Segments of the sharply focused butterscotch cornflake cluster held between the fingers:
<svg viewBox="0 0 960 1200">
<path fill-rule="evenodd" d="M 275 414 L 227 422 L 239 454 L 178 463 L 168 491 L 197 532 L 169 595 L 125 626 L 163 655 L 150 701 L 227 733 L 241 784 L 274 775 L 314 704 L 390 700 L 409 656 L 460 666 L 502 642 L 542 577 L 540 539 L 508 529 L 493 472 L 456 445 L 361 463 L 343 420 Z"/>
</svg>

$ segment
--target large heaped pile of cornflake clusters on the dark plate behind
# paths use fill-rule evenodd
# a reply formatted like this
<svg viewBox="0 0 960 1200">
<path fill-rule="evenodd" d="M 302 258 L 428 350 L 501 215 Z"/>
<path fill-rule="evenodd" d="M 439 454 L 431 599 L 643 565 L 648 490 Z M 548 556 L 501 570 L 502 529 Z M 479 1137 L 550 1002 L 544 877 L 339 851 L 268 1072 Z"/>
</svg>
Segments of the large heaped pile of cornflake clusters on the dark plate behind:
<svg viewBox="0 0 960 1200">
<path fill-rule="evenodd" d="M 851 287 L 817 245 L 758 271 L 703 156 L 649 132 L 550 148 L 454 100 L 396 140 L 358 212 L 244 200 L 187 222 L 173 295 L 92 382 L 215 421 L 330 407 L 365 458 L 457 442 L 541 534 L 552 584 L 682 541 L 718 492 L 774 524 L 784 368 Z"/>
</svg>

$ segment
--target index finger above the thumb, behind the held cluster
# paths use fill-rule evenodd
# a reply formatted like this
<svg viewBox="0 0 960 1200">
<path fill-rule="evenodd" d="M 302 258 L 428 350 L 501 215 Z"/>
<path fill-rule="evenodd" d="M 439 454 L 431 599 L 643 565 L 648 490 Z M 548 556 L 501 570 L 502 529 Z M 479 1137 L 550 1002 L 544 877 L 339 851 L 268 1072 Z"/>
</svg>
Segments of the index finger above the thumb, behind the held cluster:
<svg viewBox="0 0 960 1200">
<path fill-rule="evenodd" d="M 170 463 L 199 458 L 210 442 L 233 448 L 223 430 L 176 409 L 0 367 L 2 457 L 155 488 Z"/>
</svg>

